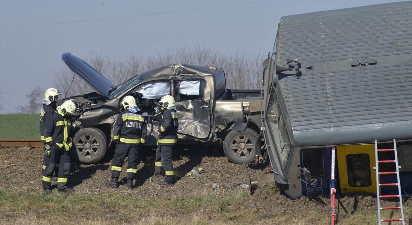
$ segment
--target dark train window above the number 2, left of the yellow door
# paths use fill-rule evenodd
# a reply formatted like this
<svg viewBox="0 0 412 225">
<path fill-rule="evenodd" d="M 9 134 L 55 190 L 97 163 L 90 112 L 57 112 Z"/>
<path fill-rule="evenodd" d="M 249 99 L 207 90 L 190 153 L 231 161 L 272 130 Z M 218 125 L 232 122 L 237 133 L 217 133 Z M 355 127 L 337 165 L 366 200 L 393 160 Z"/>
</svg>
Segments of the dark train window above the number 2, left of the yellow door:
<svg viewBox="0 0 412 225">
<path fill-rule="evenodd" d="M 311 171 L 311 176 L 323 176 L 323 152 L 321 148 L 302 150 L 302 166 Z"/>
</svg>

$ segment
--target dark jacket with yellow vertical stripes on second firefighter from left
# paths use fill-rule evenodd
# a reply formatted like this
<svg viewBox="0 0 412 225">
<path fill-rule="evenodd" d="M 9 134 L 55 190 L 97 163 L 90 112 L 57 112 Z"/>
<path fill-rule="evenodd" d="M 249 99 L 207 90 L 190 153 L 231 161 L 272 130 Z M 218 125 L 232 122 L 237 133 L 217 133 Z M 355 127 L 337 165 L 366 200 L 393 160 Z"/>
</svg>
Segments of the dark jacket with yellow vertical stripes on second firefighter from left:
<svg viewBox="0 0 412 225">
<path fill-rule="evenodd" d="M 72 135 L 75 128 L 63 117 L 61 111 L 57 109 L 57 113 L 52 116 L 52 119 L 45 121 L 44 140 L 50 146 L 57 145 L 59 148 L 69 151 L 72 146 Z"/>
</svg>

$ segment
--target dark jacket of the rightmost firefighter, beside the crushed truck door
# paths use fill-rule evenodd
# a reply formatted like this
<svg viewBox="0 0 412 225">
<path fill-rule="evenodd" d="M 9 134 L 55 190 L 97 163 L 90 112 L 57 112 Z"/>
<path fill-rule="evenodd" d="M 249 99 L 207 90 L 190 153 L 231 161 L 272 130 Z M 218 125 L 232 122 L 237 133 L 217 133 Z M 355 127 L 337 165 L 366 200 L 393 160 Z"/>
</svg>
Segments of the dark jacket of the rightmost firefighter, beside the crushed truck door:
<svg viewBox="0 0 412 225">
<path fill-rule="evenodd" d="M 174 109 L 166 109 L 162 114 L 160 120 L 160 138 L 157 144 L 173 145 L 177 142 L 177 128 L 179 127 L 179 120 Z"/>
</svg>

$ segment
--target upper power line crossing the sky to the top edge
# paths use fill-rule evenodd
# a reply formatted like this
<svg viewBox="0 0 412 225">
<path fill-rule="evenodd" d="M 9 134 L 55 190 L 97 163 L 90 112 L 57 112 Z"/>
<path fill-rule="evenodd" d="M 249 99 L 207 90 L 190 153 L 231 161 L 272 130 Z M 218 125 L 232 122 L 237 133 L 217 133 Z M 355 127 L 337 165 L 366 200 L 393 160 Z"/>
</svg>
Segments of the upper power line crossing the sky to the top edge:
<svg viewBox="0 0 412 225">
<path fill-rule="evenodd" d="M 56 25 L 56 24 L 69 24 L 69 23 L 82 23 L 82 22 L 95 22 L 95 21 L 128 19 L 128 18 L 138 18 L 138 17 L 144 17 L 144 16 L 167 15 L 167 14 L 175 14 L 175 13 L 182 13 L 182 12 L 229 8 L 229 7 L 237 7 L 237 6 L 244 6 L 244 5 L 251 5 L 251 4 L 273 2 L 273 1 L 274 0 L 262 0 L 262 1 L 253 1 L 253 2 L 246 2 L 246 3 L 239 3 L 239 4 L 212 6 L 212 7 L 206 7 L 206 8 L 193 8 L 193 9 L 184 9 L 184 10 L 177 10 L 177 11 L 167 11 L 167 12 L 147 13 L 147 14 L 142 14 L 142 15 L 119 16 L 119 17 L 108 17 L 108 18 L 97 18 L 97 19 L 69 20 L 69 21 L 46 22 L 46 23 L 36 23 L 36 24 L 33 23 L 33 24 L 19 24 L 19 25 L 0 25 L 0 28 L 30 27 L 30 26 L 42 26 L 42 25 Z"/>
</svg>

